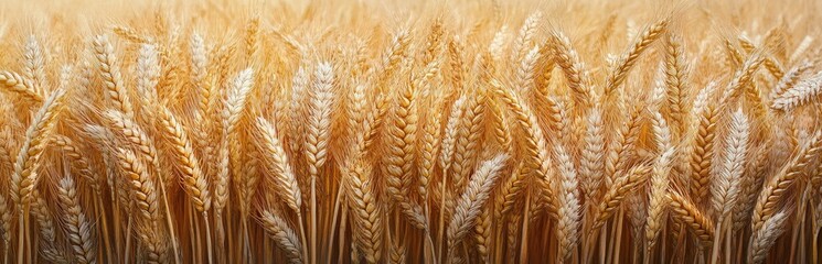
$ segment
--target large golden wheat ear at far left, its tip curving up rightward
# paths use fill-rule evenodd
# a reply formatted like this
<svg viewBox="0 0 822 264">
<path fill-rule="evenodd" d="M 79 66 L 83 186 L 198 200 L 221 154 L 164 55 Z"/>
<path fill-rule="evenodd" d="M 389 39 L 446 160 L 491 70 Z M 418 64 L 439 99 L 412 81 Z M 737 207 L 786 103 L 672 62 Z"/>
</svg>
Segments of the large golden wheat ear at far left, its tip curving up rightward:
<svg viewBox="0 0 822 264">
<path fill-rule="evenodd" d="M 56 90 L 43 102 L 25 131 L 25 141 L 18 152 L 9 193 L 20 210 L 29 204 L 29 195 L 38 184 L 40 155 L 43 153 L 57 116 L 63 107 L 65 91 Z"/>
</svg>

